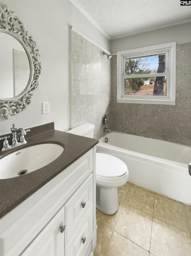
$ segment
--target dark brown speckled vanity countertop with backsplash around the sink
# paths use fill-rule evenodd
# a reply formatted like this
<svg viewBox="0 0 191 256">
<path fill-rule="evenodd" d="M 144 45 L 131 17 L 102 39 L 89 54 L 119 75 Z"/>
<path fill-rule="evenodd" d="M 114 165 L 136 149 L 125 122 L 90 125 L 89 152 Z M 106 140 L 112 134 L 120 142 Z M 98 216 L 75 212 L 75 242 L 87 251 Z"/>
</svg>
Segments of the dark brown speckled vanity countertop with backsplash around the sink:
<svg viewBox="0 0 191 256">
<path fill-rule="evenodd" d="M 56 160 L 40 168 L 38 171 L 14 178 L 0 179 L 0 218 L 98 143 L 96 139 L 55 130 L 53 122 L 31 128 L 31 131 L 27 133 L 25 138 L 27 144 L 8 151 L 0 151 L 0 159 L 24 147 L 43 143 L 59 144 L 64 146 L 64 151 Z"/>
</svg>

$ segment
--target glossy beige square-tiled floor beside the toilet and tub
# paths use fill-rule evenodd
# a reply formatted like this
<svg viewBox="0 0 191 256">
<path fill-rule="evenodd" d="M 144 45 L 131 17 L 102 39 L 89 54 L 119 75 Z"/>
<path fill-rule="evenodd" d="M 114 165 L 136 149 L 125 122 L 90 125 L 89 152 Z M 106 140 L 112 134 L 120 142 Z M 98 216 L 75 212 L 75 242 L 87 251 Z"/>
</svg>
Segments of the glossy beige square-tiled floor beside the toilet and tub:
<svg viewBox="0 0 191 256">
<path fill-rule="evenodd" d="M 191 207 L 127 182 L 113 215 L 96 210 L 94 256 L 191 256 Z"/>
</svg>

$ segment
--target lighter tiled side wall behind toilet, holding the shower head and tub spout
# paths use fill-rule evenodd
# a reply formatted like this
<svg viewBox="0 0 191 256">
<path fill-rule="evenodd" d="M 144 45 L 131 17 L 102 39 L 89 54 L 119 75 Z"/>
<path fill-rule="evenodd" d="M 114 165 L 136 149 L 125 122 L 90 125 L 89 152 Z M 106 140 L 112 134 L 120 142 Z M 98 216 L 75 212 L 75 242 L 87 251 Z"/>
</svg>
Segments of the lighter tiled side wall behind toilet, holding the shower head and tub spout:
<svg viewBox="0 0 191 256">
<path fill-rule="evenodd" d="M 84 123 L 95 125 L 94 138 L 111 127 L 111 60 L 103 50 L 72 31 L 72 115 L 73 128 Z M 108 124 L 101 123 L 106 114 Z"/>
</svg>

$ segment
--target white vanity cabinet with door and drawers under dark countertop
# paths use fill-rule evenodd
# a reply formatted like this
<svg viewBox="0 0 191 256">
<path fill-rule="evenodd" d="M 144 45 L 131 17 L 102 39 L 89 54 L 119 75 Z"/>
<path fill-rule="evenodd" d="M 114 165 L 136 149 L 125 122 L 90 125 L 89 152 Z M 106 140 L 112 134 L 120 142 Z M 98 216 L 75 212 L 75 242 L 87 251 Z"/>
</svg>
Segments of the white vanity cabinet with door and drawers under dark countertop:
<svg viewBox="0 0 191 256">
<path fill-rule="evenodd" d="M 93 255 L 95 158 L 96 146 L 0 219 L 0 256 Z"/>
</svg>

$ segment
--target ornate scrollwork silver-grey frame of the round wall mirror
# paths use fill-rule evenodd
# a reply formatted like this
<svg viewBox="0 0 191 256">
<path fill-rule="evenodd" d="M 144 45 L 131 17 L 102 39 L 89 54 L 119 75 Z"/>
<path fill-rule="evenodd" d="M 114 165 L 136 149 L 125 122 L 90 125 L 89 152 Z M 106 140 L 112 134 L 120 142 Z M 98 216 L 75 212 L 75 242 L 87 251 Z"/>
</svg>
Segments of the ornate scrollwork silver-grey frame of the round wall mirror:
<svg viewBox="0 0 191 256">
<path fill-rule="evenodd" d="M 34 91 L 36 91 L 39 85 L 42 66 L 38 61 L 40 55 L 35 40 L 33 37 L 29 36 L 24 24 L 15 16 L 15 13 L 1 3 L 0 32 L 9 34 L 21 43 L 30 63 L 29 81 L 24 91 L 13 98 L 0 98 L 0 117 L 4 116 L 9 119 L 10 116 L 16 115 L 26 109 L 27 105 L 31 103 Z"/>
</svg>

